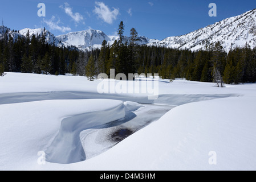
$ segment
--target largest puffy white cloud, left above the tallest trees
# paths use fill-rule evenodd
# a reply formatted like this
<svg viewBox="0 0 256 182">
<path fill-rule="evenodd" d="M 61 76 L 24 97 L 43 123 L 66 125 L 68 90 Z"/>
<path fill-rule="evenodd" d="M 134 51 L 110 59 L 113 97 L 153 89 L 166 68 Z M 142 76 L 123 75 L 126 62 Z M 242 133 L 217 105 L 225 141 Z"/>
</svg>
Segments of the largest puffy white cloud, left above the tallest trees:
<svg viewBox="0 0 256 182">
<path fill-rule="evenodd" d="M 111 9 L 109 9 L 103 2 L 96 1 L 95 4 L 94 13 L 96 13 L 105 23 L 112 24 L 113 20 L 116 20 L 117 15 L 119 15 L 119 9 L 113 8 L 111 11 Z"/>
</svg>

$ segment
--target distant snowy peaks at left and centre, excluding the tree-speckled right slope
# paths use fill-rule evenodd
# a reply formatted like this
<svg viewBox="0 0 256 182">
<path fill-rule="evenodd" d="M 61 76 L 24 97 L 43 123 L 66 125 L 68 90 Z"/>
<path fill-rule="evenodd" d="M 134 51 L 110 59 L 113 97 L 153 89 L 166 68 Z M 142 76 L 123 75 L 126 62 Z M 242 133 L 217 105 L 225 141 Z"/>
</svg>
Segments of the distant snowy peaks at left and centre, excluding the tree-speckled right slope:
<svg viewBox="0 0 256 182">
<path fill-rule="evenodd" d="M 32 38 L 32 35 L 36 36 L 42 36 L 43 32 L 45 31 L 44 35 L 46 37 L 46 42 L 48 44 L 54 44 L 58 47 L 76 47 L 82 51 L 90 50 L 91 47 L 94 48 L 101 48 L 101 44 L 103 40 L 107 40 L 109 45 L 112 45 L 115 40 L 119 39 L 119 36 L 109 36 L 106 35 L 103 31 L 100 30 L 84 30 L 84 31 L 78 31 L 78 32 L 70 32 L 68 34 L 54 36 L 50 31 L 44 30 L 44 28 L 24 28 L 19 31 L 11 31 L 10 28 L 0 26 L 0 38 L 3 38 L 5 34 L 3 32 L 7 32 L 7 36 L 9 34 L 11 37 L 16 40 L 18 36 L 26 36 L 27 32 L 29 31 L 30 38 Z M 154 43 L 158 42 L 159 40 L 156 39 L 149 39 L 145 36 L 140 36 L 137 40 L 137 44 L 143 45 L 148 43 Z M 131 41 L 131 38 L 125 36 L 124 42 Z"/>
</svg>

